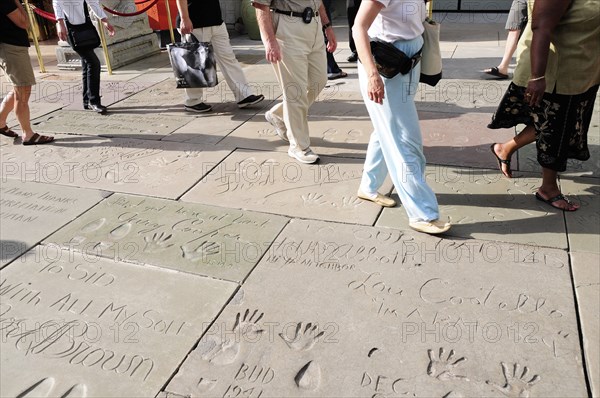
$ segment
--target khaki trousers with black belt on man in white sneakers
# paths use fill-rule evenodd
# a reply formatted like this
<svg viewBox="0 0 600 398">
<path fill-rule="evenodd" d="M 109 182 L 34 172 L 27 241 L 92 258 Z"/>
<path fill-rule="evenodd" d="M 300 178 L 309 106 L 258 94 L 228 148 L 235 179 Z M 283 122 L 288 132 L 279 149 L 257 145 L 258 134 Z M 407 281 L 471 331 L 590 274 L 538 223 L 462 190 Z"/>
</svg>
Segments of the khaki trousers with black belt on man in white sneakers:
<svg viewBox="0 0 600 398">
<path fill-rule="evenodd" d="M 273 64 L 283 91 L 283 103 L 271 111 L 283 118 L 290 148 L 310 146 L 308 108 L 327 83 L 327 58 L 319 18 L 305 24 L 298 17 L 279 15 L 276 37 L 282 60 Z"/>
</svg>

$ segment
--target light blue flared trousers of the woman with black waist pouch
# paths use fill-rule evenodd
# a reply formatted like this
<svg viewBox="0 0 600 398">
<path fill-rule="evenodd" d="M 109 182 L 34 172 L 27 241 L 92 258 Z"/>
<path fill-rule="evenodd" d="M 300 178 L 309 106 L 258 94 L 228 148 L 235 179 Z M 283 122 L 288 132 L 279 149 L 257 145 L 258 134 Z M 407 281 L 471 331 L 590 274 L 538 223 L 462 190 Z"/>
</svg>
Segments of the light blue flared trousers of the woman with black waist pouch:
<svg viewBox="0 0 600 398">
<path fill-rule="evenodd" d="M 423 46 L 423 38 L 397 41 L 394 45 L 410 57 Z M 379 105 L 369 99 L 368 78 L 364 67 L 358 64 L 360 90 L 374 128 L 360 189 L 367 194 L 376 193 L 389 172 L 409 222 L 439 218 L 437 199 L 425 181 L 423 139 L 414 99 L 420 71 L 418 64 L 406 75 L 382 78 L 385 99 Z"/>
</svg>

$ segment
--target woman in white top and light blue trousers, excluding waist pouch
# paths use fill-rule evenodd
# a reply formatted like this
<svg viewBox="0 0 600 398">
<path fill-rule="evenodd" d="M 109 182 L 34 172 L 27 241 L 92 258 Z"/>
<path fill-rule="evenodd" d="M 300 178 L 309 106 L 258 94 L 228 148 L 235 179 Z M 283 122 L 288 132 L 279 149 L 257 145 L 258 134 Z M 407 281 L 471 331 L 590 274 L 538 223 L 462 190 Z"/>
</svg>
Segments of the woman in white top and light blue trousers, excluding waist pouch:
<svg viewBox="0 0 600 398">
<path fill-rule="evenodd" d="M 412 57 L 423 47 L 423 0 L 363 0 L 352 28 L 360 88 L 373 122 L 358 197 L 381 206 L 395 201 L 378 193 L 388 172 L 409 219 L 417 231 L 437 234 L 450 229 L 439 220 L 435 194 L 425 181 L 425 156 L 414 95 L 420 64 L 406 75 L 379 75 L 369 42 L 393 43 Z"/>
</svg>

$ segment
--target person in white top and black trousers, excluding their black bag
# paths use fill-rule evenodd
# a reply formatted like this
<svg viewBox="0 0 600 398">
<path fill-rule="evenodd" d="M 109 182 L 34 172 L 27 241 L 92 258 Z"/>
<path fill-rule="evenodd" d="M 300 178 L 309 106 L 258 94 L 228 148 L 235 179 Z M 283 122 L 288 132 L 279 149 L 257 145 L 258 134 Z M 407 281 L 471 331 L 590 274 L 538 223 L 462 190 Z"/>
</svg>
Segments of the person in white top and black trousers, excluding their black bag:
<svg viewBox="0 0 600 398">
<path fill-rule="evenodd" d="M 74 29 L 77 25 L 86 23 L 85 4 L 102 21 L 102 25 L 110 36 L 114 36 L 115 29 L 108 22 L 108 18 L 100 6 L 99 0 L 53 0 L 52 6 L 56 14 L 56 32 L 60 40 L 67 40 L 67 29 Z M 65 18 L 68 24 L 65 23 Z M 68 27 L 67 27 L 68 26 Z M 71 43 L 70 43 L 71 44 Z M 106 113 L 106 107 L 100 102 L 100 60 L 94 53 L 97 45 L 77 47 L 73 50 L 81 57 L 83 81 L 83 108 L 91 109 L 100 114 Z"/>
</svg>

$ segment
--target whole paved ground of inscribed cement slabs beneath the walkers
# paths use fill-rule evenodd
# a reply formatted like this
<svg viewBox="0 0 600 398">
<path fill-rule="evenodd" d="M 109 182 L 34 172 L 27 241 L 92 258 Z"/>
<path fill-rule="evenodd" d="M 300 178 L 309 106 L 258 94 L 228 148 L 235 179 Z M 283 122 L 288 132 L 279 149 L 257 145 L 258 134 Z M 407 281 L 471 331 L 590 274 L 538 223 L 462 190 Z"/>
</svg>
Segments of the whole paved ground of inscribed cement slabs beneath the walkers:
<svg viewBox="0 0 600 398">
<path fill-rule="evenodd" d="M 0 396 L 599 396 L 598 112 L 591 159 L 560 177 L 577 212 L 535 200 L 533 146 L 501 176 L 489 147 L 516 131 L 486 126 L 509 82 L 480 71 L 505 18 L 436 15 L 444 79 L 417 107 L 454 225 L 437 237 L 356 197 L 372 126 L 343 20 L 316 165 L 264 119 L 281 90 L 260 42 L 232 39 L 266 100 L 238 109 L 220 75 L 204 115 L 164 51 L 103 73 L 109 114 L 84 111 L 43 46 L 31 112 L 56 141 L 0 140 Z"/>
</svg>

